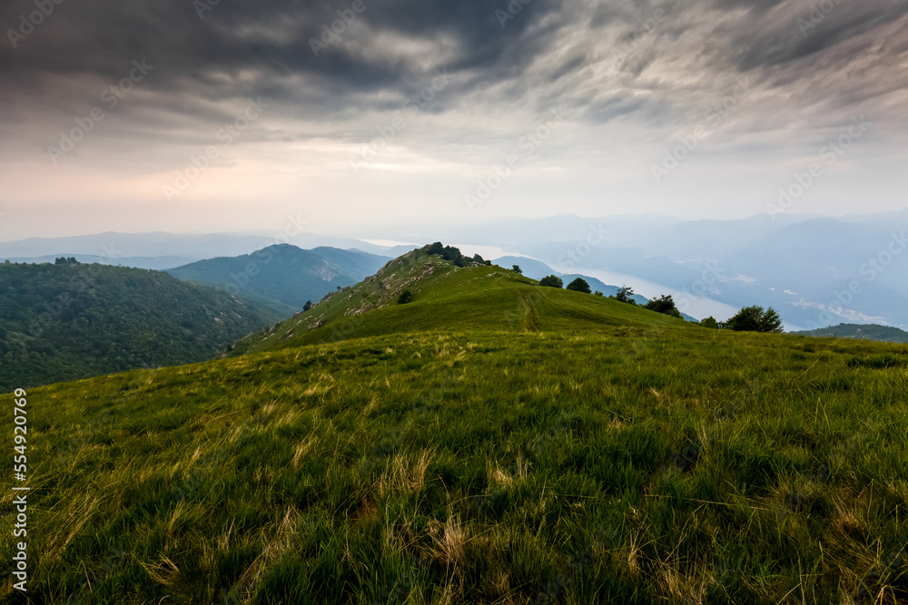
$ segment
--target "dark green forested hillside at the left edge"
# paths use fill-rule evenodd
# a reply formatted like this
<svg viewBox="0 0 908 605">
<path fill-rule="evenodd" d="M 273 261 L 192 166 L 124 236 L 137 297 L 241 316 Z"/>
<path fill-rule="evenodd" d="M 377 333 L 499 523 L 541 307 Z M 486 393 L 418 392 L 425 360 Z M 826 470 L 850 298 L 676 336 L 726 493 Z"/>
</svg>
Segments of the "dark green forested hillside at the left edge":
<svg viewBox="0 0 908 605">
<path fill-rule="evenodd" d="M 279 318 L 158 271 L 0 264 L 0 391 L 210 359 Z"/>
</svg>

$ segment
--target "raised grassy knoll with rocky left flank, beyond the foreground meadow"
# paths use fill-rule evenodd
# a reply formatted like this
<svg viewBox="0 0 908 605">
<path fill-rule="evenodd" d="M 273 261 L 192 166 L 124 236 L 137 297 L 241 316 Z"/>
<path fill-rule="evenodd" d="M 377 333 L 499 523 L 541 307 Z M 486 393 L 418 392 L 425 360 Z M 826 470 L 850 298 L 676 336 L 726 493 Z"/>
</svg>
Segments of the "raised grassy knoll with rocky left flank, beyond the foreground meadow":
<svg viewBox="0 0 908 605">
<path fill-rule="evenodd" d="M 398 298 L 410 290 L 413 302 Z M 333 342 L 400 332 L 495 329 L 538 332 L 632 326 L 640 315 L 608 298 L 558 288 L 474 263 L 459 268 L 421 249 L 391 260 L 356 286 L 331 294 L 311 310 L 242 338 L 232 355 L 275 347 Z M 644 311 L 646 325 L 683 323 Z"/>
</svg>

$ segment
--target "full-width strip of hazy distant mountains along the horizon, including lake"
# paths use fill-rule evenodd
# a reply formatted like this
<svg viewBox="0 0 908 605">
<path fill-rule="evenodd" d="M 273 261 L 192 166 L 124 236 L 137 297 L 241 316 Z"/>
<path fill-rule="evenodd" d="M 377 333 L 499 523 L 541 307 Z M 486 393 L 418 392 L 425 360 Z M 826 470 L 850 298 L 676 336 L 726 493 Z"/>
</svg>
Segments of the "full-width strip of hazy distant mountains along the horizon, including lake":
<svg viewBox="0 0 908 605">
<path fill-rule="evenodd" d="M 483 256 L 526 255 L 561 274 L 596 275 L 604 284 L 627 283 L 643 297 L 672 294 L 676 301 L 686 298 L 686 304 L 679 307 L 697 317 L 712 314 L 726 319 L 712 310 L 716 306 L 708 304 L 717 301 L 721 303 L 717 307 L 729 316 L 749 305 L 775 307 L 789 329 L 843 322 L 908 329 L 905 227 L 908 210 L 867 216 L 761 214 L 743 220 L 690 221 L 658 215 L 583 218 L 564 214 L 545 219 L 382 226 L 361 235 L 380 238 L 375 241 L 442 240 L 461 247 L 468 243 L 495 246 L 500 250 L 497 254 Z M 416 247 L 380 246 L 365 239 L 322 237 L 298 230 L 294 223 L 283 234 L 271 237 L 104 233 L 25 239 L 0 243 L 0 261 L 76 256 L 167 268 L 168 263 L 176 267 L 246 255 L 279 240 L 301 248 L 331 246 L 386 257 Z M 514 262 L 529 269 L 528 259 Z M 703 307 L 711 310 L 704 312 Z"/>
</svg>

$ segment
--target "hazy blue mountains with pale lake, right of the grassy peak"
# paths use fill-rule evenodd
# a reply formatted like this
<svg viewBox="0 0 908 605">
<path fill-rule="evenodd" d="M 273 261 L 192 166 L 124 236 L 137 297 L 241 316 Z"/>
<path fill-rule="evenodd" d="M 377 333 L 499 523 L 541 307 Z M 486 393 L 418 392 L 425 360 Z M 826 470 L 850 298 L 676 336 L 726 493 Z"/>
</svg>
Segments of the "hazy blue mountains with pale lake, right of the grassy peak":
<svg viewBox="0 0 908 605">
<path fill-rule="evenodd" d="M 908 210 L 691 221 L 563 214 L 425 229 L 422 239 L 494 243 L 566 273 L 605 270 L 734 308 L 775 307 L 790 329 L 842 322 L 908 329 Z M 411 240 L 417 230 L 381 232 Z M 635 286 L 631 280 L 628 285 Z M 857 294 L 848 296 L 850 286 Z"/>
</svg>

